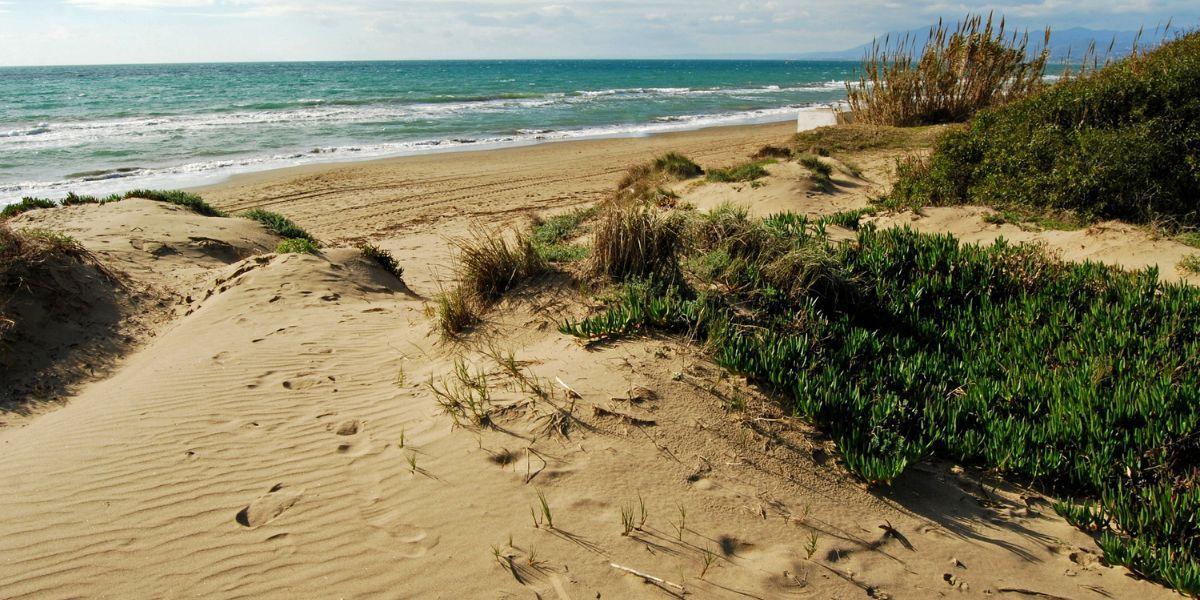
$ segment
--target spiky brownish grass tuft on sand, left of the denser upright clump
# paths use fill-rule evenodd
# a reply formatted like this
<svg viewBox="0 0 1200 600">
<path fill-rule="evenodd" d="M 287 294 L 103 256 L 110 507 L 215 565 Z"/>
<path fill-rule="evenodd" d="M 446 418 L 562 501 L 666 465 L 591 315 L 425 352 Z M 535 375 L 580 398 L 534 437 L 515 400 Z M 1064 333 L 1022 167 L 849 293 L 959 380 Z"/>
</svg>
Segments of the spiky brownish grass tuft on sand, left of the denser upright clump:
<svg viewBox="0 0 1200 600">
<path fill-rule="evenodd" d="M 455 246 L 462 288 L 485 304 L 546 270 L 546 262 L 526 233 L 509 240 L 502 230 L 474 227 L 472 235 L 456 240 Z"/>
</svg>

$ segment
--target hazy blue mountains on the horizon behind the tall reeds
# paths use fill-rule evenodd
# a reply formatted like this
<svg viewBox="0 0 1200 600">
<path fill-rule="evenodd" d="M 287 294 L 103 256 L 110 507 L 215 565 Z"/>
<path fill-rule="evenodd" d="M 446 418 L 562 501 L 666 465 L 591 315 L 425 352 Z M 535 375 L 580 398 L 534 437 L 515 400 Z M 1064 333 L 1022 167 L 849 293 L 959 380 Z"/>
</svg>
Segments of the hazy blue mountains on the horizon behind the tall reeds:
<svg viewBox="0 0 1200 600">
<path fill-rule="evenodd" d="M 910 31 L 893 31 L 886 36 L 880 36 L 882 41 L 884 37 L 889 40 L 889 46 L 899 46 L 900 40 L 908 36 L 908 43 L 916 44 L 918 48 L 925 44 L 929 38 L 929 28 L 913 29 Z M 1030 31 L 1030 49 L 1034 53 L 1042 52 L 1042 31 L 1031 30 Z M 1087 48 L 1094 43 L 1097 52 L 1100 55 L 1109 49 L 1109 44 L 1112 44 L 1114 56 L 1124 56 L 1133 52 L 1134 41 L 1138 40 L 1136 31 L 1109 31 L 1087 28 L 1072 28 L 1050 31 L 1050 60 L 1062 61 L 1069 59 L 1079 59 L 1082 56 Z M 1159 41 L 1152 31 L 1144 32 L 1139 46 L 1154 44 Z M 870 52 L 871 44 L 864 43 L 862 46 L 856 46 L 845 50 L 836 52 L 810 52 L 805 54 L 798 54 L 793 58 L 802 60 L 859 60 L 864 54 Z"/>
</svg>

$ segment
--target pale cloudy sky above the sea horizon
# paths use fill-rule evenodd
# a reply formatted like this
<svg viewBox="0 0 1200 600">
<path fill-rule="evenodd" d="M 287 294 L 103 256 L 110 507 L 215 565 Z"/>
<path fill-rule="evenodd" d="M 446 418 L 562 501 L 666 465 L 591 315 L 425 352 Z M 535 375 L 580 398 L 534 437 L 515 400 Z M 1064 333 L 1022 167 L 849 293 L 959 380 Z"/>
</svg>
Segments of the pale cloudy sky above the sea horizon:
<svg viewBox="0 0 1200 600">
<path fill-rule="evenodd" d="M 1198 0 L 0 0 L 0 65 L 786 54 L 988 10 L 1200 23 Z"/>
</svg>

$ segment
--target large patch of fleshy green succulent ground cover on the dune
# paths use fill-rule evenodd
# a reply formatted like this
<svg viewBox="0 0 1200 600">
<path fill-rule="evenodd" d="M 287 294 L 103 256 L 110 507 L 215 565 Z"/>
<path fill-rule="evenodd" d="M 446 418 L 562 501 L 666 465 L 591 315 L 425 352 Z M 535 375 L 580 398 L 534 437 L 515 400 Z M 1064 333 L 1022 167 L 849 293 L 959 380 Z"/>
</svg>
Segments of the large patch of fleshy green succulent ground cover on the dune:
<svg viewBox="0 0 1200 600">
<path fill-rule="evenodd" d="M 683 276 L 626 286 L 566 334 L 686 332 L 893 481 L 930 455 L 1079 498 L 1106 558 L 1200 592 L 1200 289 L 1039 247 L 724 208 Z"/>
</svg>

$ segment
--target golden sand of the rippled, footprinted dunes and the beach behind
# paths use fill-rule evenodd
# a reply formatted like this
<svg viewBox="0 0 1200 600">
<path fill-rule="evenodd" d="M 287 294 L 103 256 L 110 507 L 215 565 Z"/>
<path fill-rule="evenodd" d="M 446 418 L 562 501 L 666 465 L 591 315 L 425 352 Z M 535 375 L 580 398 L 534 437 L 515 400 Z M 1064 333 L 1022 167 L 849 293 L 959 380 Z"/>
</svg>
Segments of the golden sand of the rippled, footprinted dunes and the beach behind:
<svg viewBox="0 0 1200 600">
<path fill-rule="evenodd" d="M 336 244 L 275 256 L 257 224 L 156 203 L 19 217 L 174 301 L 109 377 L 0 430 L 0 598 L 581 600 L 677 584 L 731 599 L 1174 598 L 1105 566 L 1037 493 L 944 463 L 865 490 L 828 442 L 680 342 L 581 347 L 556 323 L 586 300 L 552 281 L 463 341 L 434 332 L 445 238 L 472 220 L 598 199 L 666 149 L 720 166 L 788 132 L 326 166 L 206 191 L 325 240 L 372 238 L 404 283 Z M 887 176 L 842 175 L 826 196 L 772 170 L 758 187 L 684 186 L 684 200 L 832 212 Z M 508 353 L 524 379 L 494 358 Z M 505 407 L 496 427 L 439 410 L 427 384 L 458 360 Z"/>
</svg>

